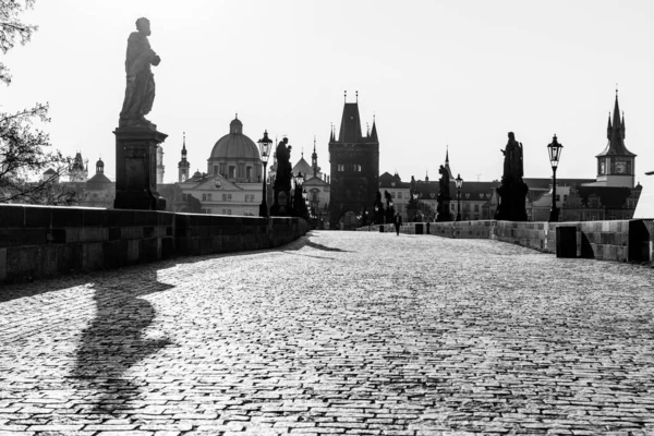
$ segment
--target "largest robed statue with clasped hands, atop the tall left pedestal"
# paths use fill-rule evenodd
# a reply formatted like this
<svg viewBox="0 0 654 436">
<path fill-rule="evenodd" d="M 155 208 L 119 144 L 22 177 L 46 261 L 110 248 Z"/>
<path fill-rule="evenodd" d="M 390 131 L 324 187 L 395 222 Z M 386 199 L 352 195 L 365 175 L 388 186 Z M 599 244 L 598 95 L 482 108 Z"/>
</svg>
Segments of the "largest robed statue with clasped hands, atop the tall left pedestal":
<svg viewBox="0 0 654 436">
<path fill-rule="evenodd" d="M 161 58 L 150 48 L 147 37 L 150 35 L 149 20 L 136 20 L 136 29 L 128 38 L 125 72 L 128 83 L 125 98 L 120 112 L 119 126 L 145 126 L 154 129 L 154 124 L 145 119 L 155 101 L 155 76 L 150 65 L 158 65 Z"/>
</svg>

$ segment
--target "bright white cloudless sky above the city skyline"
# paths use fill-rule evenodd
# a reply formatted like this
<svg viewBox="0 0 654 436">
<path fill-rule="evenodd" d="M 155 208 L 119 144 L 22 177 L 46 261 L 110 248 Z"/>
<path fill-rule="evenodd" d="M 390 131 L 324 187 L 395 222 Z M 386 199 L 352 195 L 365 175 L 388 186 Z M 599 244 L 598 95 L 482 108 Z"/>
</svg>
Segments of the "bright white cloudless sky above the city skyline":
<svg viewBox="0 0 654 436">
<path fill-rule="evenodd" d="M 524 146 L 525 177 L 549 177 L 546 145 L 564 144 L 557 175 L 594 178 L 616 83 L 637 180 L 654 170 L 654 2 L 412 0 L 37 0 L 32 43 L 4 58 L 14 76 L 5 109 L 49 101 L 56 147 L 101 155 L 116 173 L 126 39 L 152 22 L 161 57 L 148 119 L 168 134 L 166 177 L 177 181 L 182 132 L 191 170 L 239 113 L 253 141 L 288 135 L 292 160 L 328 141 L 343 104 L 376 116 L 379 173 L 464 180 L 501 177 L 507 132 Z M 93 174 L 95 171 L 92 170 Z"/>
</svg>

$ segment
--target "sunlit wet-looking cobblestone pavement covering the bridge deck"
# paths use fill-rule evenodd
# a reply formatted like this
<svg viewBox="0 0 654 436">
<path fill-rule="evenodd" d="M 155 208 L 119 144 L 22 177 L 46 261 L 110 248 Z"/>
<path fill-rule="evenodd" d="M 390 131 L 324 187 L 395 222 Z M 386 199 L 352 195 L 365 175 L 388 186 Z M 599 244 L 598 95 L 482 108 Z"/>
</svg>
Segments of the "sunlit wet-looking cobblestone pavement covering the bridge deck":
<svg viewBox="0 0 654 436">
<path fill-rule="evenodd" d="M 494 241 L 0 288 L 0 435 L 654 435 L 654 269 Z"/>
</svg>

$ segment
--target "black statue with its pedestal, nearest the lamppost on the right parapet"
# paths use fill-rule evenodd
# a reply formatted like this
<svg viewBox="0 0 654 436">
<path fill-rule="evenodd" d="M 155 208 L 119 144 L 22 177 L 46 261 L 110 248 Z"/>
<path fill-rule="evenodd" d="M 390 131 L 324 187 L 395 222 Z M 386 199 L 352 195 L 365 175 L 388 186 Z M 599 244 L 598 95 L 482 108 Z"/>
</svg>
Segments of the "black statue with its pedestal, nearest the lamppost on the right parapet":
<svg viewBox="0 0 654 436">
<path fill-rule="evenodd" d="M 529 187 L 522 181 L 522 143 L 516 141 L 513 132 L 509 132 L 509 142 L 504 150 L 504 173 L 501 184 L 497 187 L 499 206 L 495 219 L 505 221 L 526 221 L 526 193 Z"/>
</svg>

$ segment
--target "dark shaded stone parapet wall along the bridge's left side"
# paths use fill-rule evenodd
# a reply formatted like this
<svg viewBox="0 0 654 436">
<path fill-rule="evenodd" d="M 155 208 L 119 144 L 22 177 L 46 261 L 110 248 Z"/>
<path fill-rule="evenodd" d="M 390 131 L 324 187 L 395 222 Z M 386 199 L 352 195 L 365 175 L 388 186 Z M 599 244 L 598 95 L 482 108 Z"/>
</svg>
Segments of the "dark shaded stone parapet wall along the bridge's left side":
<svg viewBox="0 0 654 436">
<path fill-rule="evenodd" d="M 308 229 L 299 218 L 0 205 L 0 283 L 270 249 Z"/>
</svg>

